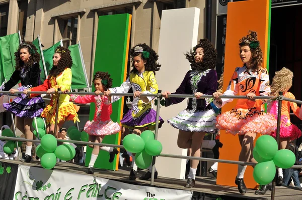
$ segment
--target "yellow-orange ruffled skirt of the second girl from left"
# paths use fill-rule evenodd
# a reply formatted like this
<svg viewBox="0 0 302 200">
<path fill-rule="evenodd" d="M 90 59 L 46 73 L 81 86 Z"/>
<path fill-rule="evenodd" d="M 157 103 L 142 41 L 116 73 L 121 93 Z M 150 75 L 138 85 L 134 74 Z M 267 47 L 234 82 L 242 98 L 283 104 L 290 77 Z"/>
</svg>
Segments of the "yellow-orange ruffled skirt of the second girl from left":
<svg viewBox="0 0 302 200">
<path fill-rule="evenodd" d="M 80 109 L 80 106 L 74 105 L 73 103 L 68 103 L 65 106 L 59 107 L 58 112 L 58 123 L 60 121 L 75 121 L 80 122 L 78 117 L 78 111 Z M 41 116 L 46 118 L 47 124 L 54 124 L 55 123 L 55 115 L 56 115 L 56 106 L 55 104 L 49 104 L 46 106 L 46 108 L 43 110 Z"/>
</svg>

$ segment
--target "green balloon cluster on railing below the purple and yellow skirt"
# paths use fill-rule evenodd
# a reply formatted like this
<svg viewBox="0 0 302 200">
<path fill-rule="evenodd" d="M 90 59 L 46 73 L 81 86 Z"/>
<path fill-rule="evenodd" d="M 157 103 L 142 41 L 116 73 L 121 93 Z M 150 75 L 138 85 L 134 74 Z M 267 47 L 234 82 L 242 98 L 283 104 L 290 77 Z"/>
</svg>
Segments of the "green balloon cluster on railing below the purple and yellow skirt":
<svg viewBox="0 0 302 200">
<path fill-rule="evenodd" d="M 152 156 L 158 156 L 163 150 L 160 141 L 154 139 L 154 133 L 150 130 L 143 131 L 140 136 L 129 134 L 123 139 L 124 148 L 135 154 L 135 163 L 145 169 L 152 163 Z"/>
</svg>

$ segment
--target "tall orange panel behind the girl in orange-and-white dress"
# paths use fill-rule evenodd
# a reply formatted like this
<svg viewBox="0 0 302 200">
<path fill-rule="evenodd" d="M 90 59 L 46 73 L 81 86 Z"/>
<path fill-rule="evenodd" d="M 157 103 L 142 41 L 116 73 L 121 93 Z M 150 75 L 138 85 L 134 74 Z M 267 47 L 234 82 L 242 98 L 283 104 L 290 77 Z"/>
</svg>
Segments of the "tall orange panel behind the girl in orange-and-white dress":
<svg viewBox="0 0 302 200">
<path fill-rule="evenodd" d="M 263 51 L 263 65 L 267 63 L 267 47 L 269 44 L 269 18 L 270 18 L 270 0 L 251 0 L 244 2 L 233 2 L 228 4 L 228 22 L 226 24 L 226 41 L 225 41 L 225 63 L 224 63 L 224 80 L 223 91 L 229 85 L 231 77 L 236 67 L 243 66 L 239 57 L 239 40 L 246 36 L 249 30 L 258 32 Z M 235 107 L 237 100 L 226 104 L 222 107 L 222 112 L 231 110 Z M 257 135 L 259 137 L 259 135 Z M 238 135 L 225 134 L 224 130 L 220 131 L 220 141 L 223 148 L 220 149 L 219 159 L 238 160 L 241 146 Z M 255 144 L 255 142 L 254 142 Z M 237 175 L 237 165 L 218 163 L 217 184 L 237 186 L 235 177 Z M 244 176 L 245 184 L 248 188 L 256 188 L 257 183 L 253 178 L 253 168 L 247 167 Z"/>
</svg>

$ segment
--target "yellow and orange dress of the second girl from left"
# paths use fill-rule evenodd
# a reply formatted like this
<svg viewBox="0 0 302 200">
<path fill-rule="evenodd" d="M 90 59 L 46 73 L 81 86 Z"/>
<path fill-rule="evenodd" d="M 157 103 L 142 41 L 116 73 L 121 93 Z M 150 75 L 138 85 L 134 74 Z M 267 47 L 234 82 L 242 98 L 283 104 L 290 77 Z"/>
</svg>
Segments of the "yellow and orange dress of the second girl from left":
<svg viewBox="0 0 302 200">
<path fill-rule="evenodd" d="M 46 79 L 44 83 L 40 86 L 30 88 L 31 92 L 35 91 L 47 91 L 50 88 L 54 88 L 56 91 L 58 88 L 61 91 L 70 90 L 71 86 L 71 69 L 66 68 L 59 76 L 51 77 L 50 79 Z M 30 98 L 35 97 L 39 94 L 30 94 Z M 55 114 L 56 114 L 56 99 L 57 95 L 52 94 L 50 103 L 43 110 L 41 116 L 46 118 L 47 124 L 55 123 Z M 59 112 L 58 112 L 58 123 L 60 121 L 71 121 L 75 123 L 75 121 L 80 122 L 77 112 L 80 107 L 74 105 L 72 102 L 69 102 L 70 96 L 67 94 L 61 94 L 59 99 Z"/>
</svg>

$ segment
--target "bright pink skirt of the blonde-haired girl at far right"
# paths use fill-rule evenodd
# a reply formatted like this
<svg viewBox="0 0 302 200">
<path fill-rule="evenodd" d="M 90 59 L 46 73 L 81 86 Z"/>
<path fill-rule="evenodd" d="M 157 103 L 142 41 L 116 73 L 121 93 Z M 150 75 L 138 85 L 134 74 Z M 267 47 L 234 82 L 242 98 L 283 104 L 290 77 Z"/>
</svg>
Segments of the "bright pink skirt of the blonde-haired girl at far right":
<svg viewBox="0 0 302 200">
<path fill-rule="evenodd" d="M 277 117 L 277 116 L 276 116 Z M 290 125 L 289 125 L 290 124 Z M 276 137 L 276 129 L 271 133 L 271 136 Z M 281 115 L 280 123 L 280 138 L 290 138 L 290 140 L 297 139 L 301 136 L 301 130 L 294 124 L 288 121 L 288 118 Z"/>
</svg>

